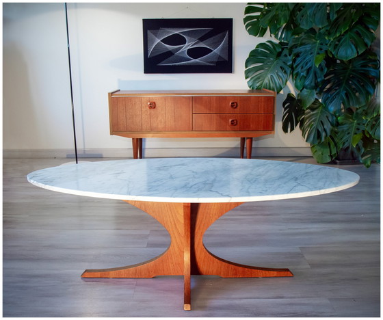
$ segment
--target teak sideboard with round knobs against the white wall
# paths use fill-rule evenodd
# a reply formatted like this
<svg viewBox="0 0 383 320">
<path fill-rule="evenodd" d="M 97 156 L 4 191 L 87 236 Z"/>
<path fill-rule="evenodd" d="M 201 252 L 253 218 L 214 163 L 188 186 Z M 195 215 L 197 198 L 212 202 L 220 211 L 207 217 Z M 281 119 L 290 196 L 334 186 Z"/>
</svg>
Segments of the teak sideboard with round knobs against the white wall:
<svg viewBox="0 0 383 320">
<path fill-rule="evenodd" d="M 110 134 L 132 138 L 142 158 L 142 138 L 240 137 L 243 158 L 252 138 L 274 133 L 276 92 L 186 90 L 109 92 Z"/>
</svg>

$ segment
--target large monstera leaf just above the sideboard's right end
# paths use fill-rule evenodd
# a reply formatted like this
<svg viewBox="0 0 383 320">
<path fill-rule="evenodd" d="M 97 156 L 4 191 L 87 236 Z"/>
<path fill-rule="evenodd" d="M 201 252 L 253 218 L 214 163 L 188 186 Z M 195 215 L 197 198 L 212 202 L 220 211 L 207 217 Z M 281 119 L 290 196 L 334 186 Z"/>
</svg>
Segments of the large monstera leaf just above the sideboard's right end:
<svg viewBox="0 0 383 320">
<path fill-rule="evenodd" d="M 291 57 L 280 44 L 258 44 L 246 59 L 245 77 L 251 89 L 282 90 L 291 74 Z"/>
</svg>

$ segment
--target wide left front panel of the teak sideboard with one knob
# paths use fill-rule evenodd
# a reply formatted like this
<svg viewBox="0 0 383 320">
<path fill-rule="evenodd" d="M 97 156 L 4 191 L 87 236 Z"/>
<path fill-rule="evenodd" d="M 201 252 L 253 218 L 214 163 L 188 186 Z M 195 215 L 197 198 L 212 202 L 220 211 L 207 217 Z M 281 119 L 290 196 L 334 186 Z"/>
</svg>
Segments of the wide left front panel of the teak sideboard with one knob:
<svg viewBox="0 0 383 320">
<path fill-rule="evenodd" d="M 111 127 L 116 132 L 192 131 L 192 98 L 111 98 Z"/>
</svg>

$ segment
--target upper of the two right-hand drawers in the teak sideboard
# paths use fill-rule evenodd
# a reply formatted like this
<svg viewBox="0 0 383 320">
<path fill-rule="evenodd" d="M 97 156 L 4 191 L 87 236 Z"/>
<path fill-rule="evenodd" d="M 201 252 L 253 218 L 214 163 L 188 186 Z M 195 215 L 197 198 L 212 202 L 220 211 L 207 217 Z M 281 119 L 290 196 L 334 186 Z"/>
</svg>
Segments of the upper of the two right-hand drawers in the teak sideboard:
<svg viewBox="0 0 383 320">
<path fill-rule="evenodd" d="M 273 114 L 274 96 L 194 96 L 194 114 Z"/>
</svg>

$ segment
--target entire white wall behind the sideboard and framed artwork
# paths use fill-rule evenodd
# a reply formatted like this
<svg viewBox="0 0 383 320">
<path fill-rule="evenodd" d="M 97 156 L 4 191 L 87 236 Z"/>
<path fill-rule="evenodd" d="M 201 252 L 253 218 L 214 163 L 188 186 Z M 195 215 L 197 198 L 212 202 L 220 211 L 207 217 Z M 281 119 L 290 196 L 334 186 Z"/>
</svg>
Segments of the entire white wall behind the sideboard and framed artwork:
<svg viewBox="0 0 383 320">
<path fill-rule="evenodd" d="M 68 3 L 79 153 L 96 150 L 94 155 L 120 155 L 116 150 L 131 148 L 130 139 L 109 135 L 109 91 L 248 89 L 244 62 L 254 46 L 266 39 L 247 34 L 245 7 L 246 3 Z M 233 18 L 232 74 L 143 73 L 142 18 L 211 17 Z M 254 148 L 270 148 L 273 155 L 283 148 L 309 154 L 299 132 L 282 132 L 285 94 L 277 98 L 275 135 L 254 139 Z M 68 150 L 73 145 L 71 117 L 64 4 L 4 3 L 3 149 L 12 155 Z M 238 146 L 239 139 L 234 138 L 145 142 L 148 155 L 153 156 L 160 155 L 158 148 L 178 155 L 177 150 L 188 148 L 211 152 L 207 150 Z M 150 154 L 150 149 L 157 151 Z"/>
</svg>

